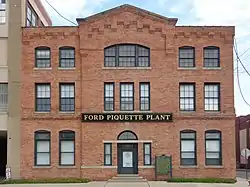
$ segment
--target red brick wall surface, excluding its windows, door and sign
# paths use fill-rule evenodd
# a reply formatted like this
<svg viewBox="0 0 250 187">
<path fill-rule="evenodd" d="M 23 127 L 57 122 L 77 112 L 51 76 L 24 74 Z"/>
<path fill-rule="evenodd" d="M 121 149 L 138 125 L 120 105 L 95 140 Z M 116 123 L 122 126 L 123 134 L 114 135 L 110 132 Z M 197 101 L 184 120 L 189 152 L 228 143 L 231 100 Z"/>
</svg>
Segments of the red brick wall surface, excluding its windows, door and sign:
<svg viewBox="0 0 250 187">
<path fill-rule="evenodd" d="M 143 141 L 155 155 L 172 155 L 173 177 L 235 177 L 235 111 L 233 92 L 234 27 L 176 26 L 175 19 L 122 6 L 79 20 L 79 27 L 24 28 L 21 64 L 21 177 L 109 179 L 117 174 L 117 144 L 112 167 L 104 165 L 104 142 L 125 130 L 138 136 L 139 175 L 154 179 L 154 167 L 143 166 Z M 150 48 L 149 68 L 106 68 L 104 48 L 133 43 Z M 35 68 L 34 49 L 51 48 L 51 68 Z M 59 67 L 59 48 L 75 48 L 75 68 Z M 178 48 L 195 47 L 195 68 L 178 68 Z M 203 68 L 203 47 L 220 48 L 220 68 Z M 59 112 L 59 83 L 75 83 L 75 112 Z M 139 112 L 139 82 L 150 82 L 152 112 L 171 112 L 173 122 L 82 123 L 81 113 L 104 111 L 104 82 L 115 82 L 115 111 L 120 110 L 120 82 L 134 83 L 134 111 Z M 196 111 L 180 112 L 179 83 L 195 82 Z M 204 112 L 204 82 L 220 83 L 220 112 Z M 35 83 L 51 84 L 51 112 L 35 112 Z M 180 166 L 180 131 L 197 136 L 197 166 Z M 51 132 L 51 166 L 34 166 L 34 132 Z M 75 166 L 59 166 L 59 131 L 76 133 Z M 205 131 L 222 132 L 222 165 L 205 166 Z"/>
</svg>

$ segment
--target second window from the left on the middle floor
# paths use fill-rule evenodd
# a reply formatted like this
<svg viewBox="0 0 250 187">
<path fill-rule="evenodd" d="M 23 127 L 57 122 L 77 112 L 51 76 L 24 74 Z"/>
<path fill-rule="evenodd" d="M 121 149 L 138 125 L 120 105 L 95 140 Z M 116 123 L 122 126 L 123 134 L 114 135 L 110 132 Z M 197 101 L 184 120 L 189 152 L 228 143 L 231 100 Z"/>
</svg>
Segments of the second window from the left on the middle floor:
<svg viewBox="0 0 250 187">
<path fill-rule="evenodd" d="M 75 84 L 60 84 L 60 111 L 75 111 Z"/>
</svg>

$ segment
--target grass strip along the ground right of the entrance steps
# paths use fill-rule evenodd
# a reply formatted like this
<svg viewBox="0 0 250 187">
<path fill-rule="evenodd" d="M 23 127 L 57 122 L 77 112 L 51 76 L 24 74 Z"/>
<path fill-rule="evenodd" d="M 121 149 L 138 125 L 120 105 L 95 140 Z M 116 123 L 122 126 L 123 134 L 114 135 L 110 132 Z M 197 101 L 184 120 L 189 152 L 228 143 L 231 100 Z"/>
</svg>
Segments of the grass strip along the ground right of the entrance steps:
<svg viewBox="0 0 250 187">
<path fill-rule="evenodd" d="M 236 179 L 220 179 L 220 178 L 170 178 L 167 182 L 175 183 L 236 183 Z"/>
</svg>

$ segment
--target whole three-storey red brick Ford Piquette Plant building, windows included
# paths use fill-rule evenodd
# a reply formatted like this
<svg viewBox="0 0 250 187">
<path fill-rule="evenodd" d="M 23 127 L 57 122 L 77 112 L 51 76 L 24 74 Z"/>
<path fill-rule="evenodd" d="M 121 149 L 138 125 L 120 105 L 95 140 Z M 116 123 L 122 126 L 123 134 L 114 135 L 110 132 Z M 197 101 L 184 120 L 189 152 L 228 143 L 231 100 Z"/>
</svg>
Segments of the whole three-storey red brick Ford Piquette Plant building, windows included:
<svg viewBox="0 0 250 187">
<path fill-rule="evenodd" d="M 153 180 L 162 154 L 173 177 L 235 177 L 234 27 L 131 5 L 77 22 L 23 28 L 22 178 Z"/>
</svg>

